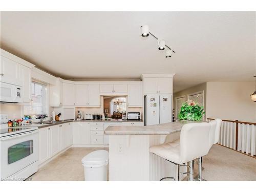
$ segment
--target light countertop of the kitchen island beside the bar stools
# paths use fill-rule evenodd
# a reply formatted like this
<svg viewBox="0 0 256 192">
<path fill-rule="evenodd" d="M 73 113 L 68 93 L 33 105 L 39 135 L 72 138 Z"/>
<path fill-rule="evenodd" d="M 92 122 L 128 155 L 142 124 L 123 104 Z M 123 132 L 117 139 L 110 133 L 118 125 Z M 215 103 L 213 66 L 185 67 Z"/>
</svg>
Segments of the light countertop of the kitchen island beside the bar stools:
<svg viewBox="0 0 256 192">
<path fill-rule="evenodd" d="M 181 131 L 181 127 L 187 123 L 202 121 L 175 121 L 148 126 L 108 126 L 106 135 L 169 135 Z"/>
</svg>

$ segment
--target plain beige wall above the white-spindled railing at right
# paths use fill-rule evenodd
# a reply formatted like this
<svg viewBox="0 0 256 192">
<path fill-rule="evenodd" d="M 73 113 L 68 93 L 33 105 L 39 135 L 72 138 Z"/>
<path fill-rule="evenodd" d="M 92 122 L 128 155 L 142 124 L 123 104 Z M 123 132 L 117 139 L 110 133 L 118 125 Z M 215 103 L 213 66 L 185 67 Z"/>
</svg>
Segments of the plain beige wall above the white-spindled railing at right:
<svg viewBox="0 0 256 192">
<path fill-rule="evenodd" d="M 256 122 L 254 82 L 207 82 L 207 118 Z"/>
</svg>

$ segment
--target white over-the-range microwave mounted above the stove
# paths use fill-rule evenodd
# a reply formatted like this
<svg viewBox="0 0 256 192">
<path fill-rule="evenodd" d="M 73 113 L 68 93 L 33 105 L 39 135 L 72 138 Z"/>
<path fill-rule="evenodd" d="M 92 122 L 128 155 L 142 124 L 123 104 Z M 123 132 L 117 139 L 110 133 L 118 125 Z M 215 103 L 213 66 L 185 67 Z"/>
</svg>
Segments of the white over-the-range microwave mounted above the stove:
<svg viewBox="0 0 256 192">
<path fill-rule="evenodd" d="M 23 102 L 22 87 L 5 82 L 0 82 L 0 102 L 19 103 Z"/>
</svg>

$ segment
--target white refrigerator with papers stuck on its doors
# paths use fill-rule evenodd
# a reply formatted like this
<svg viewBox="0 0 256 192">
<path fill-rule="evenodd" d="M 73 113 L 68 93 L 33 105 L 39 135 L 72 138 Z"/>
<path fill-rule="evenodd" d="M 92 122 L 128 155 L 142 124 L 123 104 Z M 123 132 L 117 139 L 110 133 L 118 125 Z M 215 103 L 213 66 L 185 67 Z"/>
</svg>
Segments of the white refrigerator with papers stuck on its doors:
<svg viewBox="0 0 256 192">
<path fill-rule="evenodd" d="M 144 98 L 145 125 L 172 122 L 172 95 L 147 95 Z"/>
</svg>

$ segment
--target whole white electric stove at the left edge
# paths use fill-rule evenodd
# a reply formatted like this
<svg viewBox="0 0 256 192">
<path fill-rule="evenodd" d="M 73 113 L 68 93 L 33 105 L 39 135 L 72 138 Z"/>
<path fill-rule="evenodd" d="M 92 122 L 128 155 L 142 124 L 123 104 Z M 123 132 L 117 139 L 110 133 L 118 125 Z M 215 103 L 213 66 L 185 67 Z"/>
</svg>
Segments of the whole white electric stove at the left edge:
<svg viewBox="0 0 256 192">
<path fill-rule="evenodd" d="M 1 124 L 1 180 L 23 181 L 37 172 L 38 127 Z"/>
</svg>

